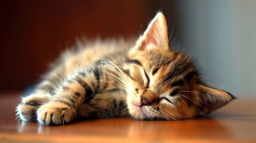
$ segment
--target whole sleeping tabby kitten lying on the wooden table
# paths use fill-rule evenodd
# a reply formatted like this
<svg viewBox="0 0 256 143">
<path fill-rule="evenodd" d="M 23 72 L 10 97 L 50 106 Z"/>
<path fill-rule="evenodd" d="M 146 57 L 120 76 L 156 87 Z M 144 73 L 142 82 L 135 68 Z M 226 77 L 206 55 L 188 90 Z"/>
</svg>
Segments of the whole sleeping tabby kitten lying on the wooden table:
<svg viewBox="0 0 256 143">
<path fill-rule="evenodd" d="M 42 125 L 106 117 L 181 120 L 208 114 L 235 98 L 202 83 L 192 61 L 169 46 L 161 12 L 129 47 L 122 40 L 79 42 L 79 49 L 64 52 L 33 94 L 22 97 L 18 119 Z"/>
</svg>

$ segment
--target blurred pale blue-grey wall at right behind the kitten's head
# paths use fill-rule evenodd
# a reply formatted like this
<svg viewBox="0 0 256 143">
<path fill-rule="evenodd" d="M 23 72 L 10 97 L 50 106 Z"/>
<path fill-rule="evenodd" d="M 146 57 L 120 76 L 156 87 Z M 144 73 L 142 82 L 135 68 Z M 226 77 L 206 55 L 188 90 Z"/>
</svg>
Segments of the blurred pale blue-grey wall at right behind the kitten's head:
<svg viewBox="0 0 256 143">
<path fill-rule="evenodd" d="M 256 98 L 256 1 L 178 1 L 184 50 L 206 83 Z"/>
</svg>

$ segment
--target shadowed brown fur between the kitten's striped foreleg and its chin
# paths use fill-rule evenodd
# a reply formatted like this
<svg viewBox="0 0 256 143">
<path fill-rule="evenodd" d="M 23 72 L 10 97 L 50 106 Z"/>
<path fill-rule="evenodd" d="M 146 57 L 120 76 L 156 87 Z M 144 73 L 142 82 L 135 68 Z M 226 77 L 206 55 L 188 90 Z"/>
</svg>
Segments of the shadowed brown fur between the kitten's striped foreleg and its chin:
<svg viewBox="0 0 256 143">
<path fill-rule="evenodd" d="M 124 92 L 118 90 L 104 91 L 94 95 L 88 102 L 83 102 L 76 110 L 78 119 L 128 117 Z"/>
</svg>

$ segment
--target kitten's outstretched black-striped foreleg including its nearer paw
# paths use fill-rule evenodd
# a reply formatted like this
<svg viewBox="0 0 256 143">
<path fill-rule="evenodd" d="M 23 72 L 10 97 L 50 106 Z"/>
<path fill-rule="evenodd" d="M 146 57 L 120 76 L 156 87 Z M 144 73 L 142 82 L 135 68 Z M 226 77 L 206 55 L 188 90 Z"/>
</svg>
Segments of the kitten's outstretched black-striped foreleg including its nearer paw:
<svg viewBox="0 0 256 143">
<path fill-rule="evenodd" d="M 106 70 L 104 70 L 106 71 Z M 37 112 L 38 122 L 43 125 L 69 123 L 76 116 L 76 109 L 105 89 L 113 88 L 112 79 L 108 79 L 103 67 L 77 71 L 71 74 L 56 91 L 49 102 Z"/>
</svg>

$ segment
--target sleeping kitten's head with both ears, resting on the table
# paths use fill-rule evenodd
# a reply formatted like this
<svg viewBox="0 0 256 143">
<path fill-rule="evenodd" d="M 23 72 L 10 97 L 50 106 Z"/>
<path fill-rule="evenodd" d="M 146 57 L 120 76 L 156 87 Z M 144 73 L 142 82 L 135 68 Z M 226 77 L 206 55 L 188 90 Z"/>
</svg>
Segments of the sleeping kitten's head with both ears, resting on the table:
<svg viewBox="0 0 256 143">
<path fill-rule="evenodd" d="M 199 80 L 190 58 L 169 46 L 164 14 L 158 13 L 128 53 L 127 104 L 135 119 L 189 119 L 234 97 Z"/>
</svg>

